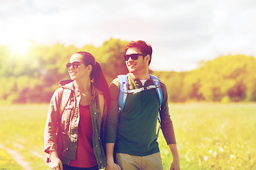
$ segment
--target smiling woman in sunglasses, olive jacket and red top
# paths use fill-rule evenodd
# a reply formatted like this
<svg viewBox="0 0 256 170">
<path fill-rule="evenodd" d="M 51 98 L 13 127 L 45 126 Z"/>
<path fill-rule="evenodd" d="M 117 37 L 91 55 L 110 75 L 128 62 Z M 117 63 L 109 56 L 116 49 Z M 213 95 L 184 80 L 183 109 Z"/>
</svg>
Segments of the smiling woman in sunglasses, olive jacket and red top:
<svg viewBox="0 0 256 170">
<path fill-rule="evenodd" d="M 76 52 L 66 64 L 70 79 L 60 81 L 50 101 L 44 151 L 51 169 L 102 169 L 104 130 L 110 93 L 100 64 Z"/>
</svg>

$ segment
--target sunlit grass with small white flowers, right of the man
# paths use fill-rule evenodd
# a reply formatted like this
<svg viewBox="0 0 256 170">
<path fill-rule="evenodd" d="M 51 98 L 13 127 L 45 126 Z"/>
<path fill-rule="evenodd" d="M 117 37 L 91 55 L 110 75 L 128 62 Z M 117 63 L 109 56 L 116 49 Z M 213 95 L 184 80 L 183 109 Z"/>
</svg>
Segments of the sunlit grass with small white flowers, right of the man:
<svg viewBox="0 0 256 170">
<path fill-rule="evenodd" d="M 256 103 L 169 106 L 181 169 L 256 169 Z M 171 154 L 159 138 L 164 169 Z"/>
</svg>

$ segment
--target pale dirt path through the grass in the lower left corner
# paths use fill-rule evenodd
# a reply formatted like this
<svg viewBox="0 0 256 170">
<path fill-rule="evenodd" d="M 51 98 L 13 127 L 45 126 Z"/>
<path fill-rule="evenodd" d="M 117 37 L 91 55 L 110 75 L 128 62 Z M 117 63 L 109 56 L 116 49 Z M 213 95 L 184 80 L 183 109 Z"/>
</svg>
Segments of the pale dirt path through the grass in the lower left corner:
<svg viewBox="0 0 256 170">
<path fill-rule="evenodd" d="M 31 166 L 29 166 L 28 162 L 23 160 L 23 157 L 21 156 L 21 154 L 19 154 L 17 151 L 9 149 L 7 147 L 4 147 L 3 145 L 0 144 L 0 148 L 4 149 L 8 154 L 11 154 L 11 157 L 19 164 L 23 167 L 23 169 L 26 170 L 32 170 Z"/>
</svg>

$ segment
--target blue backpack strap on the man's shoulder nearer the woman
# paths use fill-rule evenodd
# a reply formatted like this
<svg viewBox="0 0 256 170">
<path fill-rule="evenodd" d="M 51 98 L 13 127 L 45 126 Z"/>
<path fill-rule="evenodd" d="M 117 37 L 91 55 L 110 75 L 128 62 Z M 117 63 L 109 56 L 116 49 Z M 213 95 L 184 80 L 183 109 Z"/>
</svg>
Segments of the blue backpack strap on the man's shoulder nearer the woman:
<svg viewBox="0 0 256 170">
<path fill-rule="evenodd" d="M 127 94 L 128 94 L 127 91 L 129 89 L 128 79 L 127 79 L 127 75 L 119 75 L 117 77 L 119 79 L 119 85 L 120 85 L 120 94 L 118 98 L 119 111 L 123 111 L 124 104 L 127 99 Z"/>
</svg>

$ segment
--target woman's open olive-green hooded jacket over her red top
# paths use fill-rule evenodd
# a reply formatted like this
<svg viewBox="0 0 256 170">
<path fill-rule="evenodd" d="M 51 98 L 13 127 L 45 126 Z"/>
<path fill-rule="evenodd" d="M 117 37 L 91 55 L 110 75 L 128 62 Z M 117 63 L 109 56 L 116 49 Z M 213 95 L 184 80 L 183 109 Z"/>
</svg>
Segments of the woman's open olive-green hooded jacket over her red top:
<svg viewBox="0 0 256 170">
<path fill-rule="evenodd" d="M 60 88 L 55 91 L 50 100 L 50 107 L 44 133 L 44 151 L 57 151 L 63 164 L 69 164 L 75 159 L 78 147 L 78 123 L 80 120 L 80 91 L 74 81 L 68 79 L 60 81 Z M 63 90 L 71 90 L 68 103 L 63 113 L 60 113 L 60 102 Z M 107 166 L 105 158 L 105 119 L 107 103 L 104 102 L 104 111 L 100 112 L 99 95 L 102 94 L 92 84 L 92 101 L 90 102 L 90 118 L 92 120 L 92 144 L 99 169 Z"/>
</svg>

